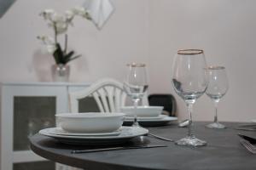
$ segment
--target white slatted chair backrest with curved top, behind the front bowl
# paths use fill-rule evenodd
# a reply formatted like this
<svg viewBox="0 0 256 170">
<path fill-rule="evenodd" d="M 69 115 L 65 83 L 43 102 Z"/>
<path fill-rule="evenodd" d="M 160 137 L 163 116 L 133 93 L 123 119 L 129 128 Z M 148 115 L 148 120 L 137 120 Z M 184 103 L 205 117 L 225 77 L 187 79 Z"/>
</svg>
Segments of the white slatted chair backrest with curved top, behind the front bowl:
<svg viewBox="0 0 256 170">
<path fill-rule="evenodd" d="M 112 78 L 104 78 L 79 91 L 70 92 L 70 111 L 79 112 L 79 99 L 93 97 L 101 112 L 119 112 L 125 105 L 127 94 L 123 84 Z M 148 96 L 143 99 L 143 105 L 148 105 Z"/>
</svg>

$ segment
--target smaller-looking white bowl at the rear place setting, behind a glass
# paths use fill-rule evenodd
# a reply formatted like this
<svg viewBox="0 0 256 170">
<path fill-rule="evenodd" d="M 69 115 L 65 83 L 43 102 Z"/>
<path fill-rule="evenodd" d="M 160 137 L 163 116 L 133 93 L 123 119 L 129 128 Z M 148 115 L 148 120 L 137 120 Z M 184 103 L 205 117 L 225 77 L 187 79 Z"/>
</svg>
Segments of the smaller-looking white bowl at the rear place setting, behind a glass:
<svg viewBox="0 0 256 170">
<path fill-rule="evenodd" d="M 138 106 L 137 116 L 160 116 L 163 109 L 163 106 Z M 120 110 L 125 113 L 126 116 L 135 116 L 133 106 L 125 106 L 120 108 Z"/>
</svg>

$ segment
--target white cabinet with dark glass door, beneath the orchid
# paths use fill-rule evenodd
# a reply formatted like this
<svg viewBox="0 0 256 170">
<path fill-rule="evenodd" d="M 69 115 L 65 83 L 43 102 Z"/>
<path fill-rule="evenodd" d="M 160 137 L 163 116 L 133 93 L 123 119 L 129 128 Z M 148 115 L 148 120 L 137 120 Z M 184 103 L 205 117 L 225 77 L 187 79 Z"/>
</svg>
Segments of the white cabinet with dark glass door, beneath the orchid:
<svg viewBox="0 0 256 170">
<path fill-rule="evenodd" d="M 32 163 L 37 167 L 43 161 L 47 164 L 29 150 L 28 136 L 55 126 L 55 114 L 69 111 L 68 92 L 88 86 L 65 82 L 2 83 L 0 170 L 31 170 Z M 45 169 L 49 169 L 47 166 Z"/>
</svg>

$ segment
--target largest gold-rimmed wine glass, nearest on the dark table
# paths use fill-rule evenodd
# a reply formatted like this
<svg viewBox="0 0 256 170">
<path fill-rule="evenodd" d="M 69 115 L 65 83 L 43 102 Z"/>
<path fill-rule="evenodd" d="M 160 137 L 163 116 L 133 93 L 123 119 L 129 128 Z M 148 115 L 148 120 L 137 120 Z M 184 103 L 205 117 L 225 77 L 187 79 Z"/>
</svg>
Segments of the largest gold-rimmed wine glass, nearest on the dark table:
<svg viewBox="0 0 256 170">
<path fill-rule="evenodd" d="M 185 101 L 189 110 L 188 135 L 176 141 L 179 145 L 200 146 L 207 142 L 195 138 L 192 133 L 192 109 L 195 100 L 207 89 L 207 62 L 203 50 L 178 50 L 174 58 L 172 84 L 175 92 Z"/>
</svg>

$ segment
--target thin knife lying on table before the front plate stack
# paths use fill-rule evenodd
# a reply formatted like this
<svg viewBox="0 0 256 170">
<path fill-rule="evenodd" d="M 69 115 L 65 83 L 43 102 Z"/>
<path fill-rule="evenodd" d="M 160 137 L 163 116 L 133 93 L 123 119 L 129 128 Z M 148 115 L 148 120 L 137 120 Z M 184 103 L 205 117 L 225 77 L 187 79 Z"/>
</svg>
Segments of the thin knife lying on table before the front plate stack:
<svg viewBox="0 0 256 170">
<path fill-rule="evenodd" d="M 93 150 L 72 150 L 72 154 L 81 154 L 81 153 L 91 153 L 91 152 L 100 152 L 100 151 L 110 151 L 110 150 L 134 150 L 134 149 L 148 149 L 148 148 L 160 148 L 167 147 L 167 145 L 144 145 L 144 146 L 120 146 L 112 148 L 102 148 L 102 149 L 93 149 Z"/>
</svg>

